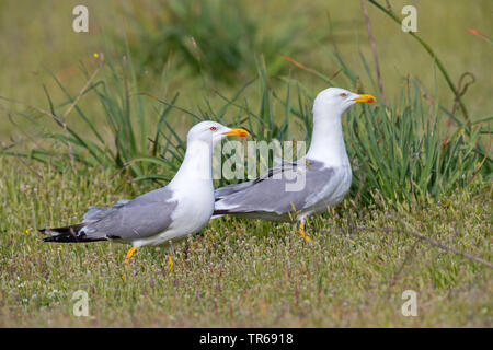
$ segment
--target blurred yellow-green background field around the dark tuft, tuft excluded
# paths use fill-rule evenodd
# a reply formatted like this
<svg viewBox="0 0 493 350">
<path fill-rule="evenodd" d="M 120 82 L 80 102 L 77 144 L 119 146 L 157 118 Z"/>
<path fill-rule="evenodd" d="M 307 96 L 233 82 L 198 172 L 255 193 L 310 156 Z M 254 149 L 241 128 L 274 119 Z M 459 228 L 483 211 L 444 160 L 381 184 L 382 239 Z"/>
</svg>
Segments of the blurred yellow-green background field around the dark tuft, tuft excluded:
<svg viewBox="0 0 493 350">
<path fill-rule="evenodd" d="M 139 40 L 139 35 L 130 24 L 131 20 L 126 14 L 135 15 L 144 1 L 128 2 L 128 5 L 116 3 L 115 1 L 82 1 L 89 7 L 91 12 L 90 35 L 77 34 L 71 31 L 72 4 L 67 2 L 57 3 L 47 0 L 45 5 L 35 1 L 19 3 L 19 1 L 2 1 L 0 11 L 0 49 L 5 55 L 0 57 L 0 65 L 5 69 L 0 75 L 0 94 L 24 101 L 33 105 L 38 105 L 45 98 L 42 84 L 46 83 L 49 91 L 55 91 L 56 85 L 50 83 L 47 70 L 57 74 L 71 92 L 79 91 L 81 79 L 79 74 L 79 61 L 90 61 L 95 51 L 103 50 L 104 37 L 115 37 L 117 34 L 127 31 L 129 39 Z M 146 3 L 153 3 L 146 1 Z M 392 1 L 392 9 L 400 13 L 400 9 L 406 4 L 405 1 Z M 451 80 L 457 83 L 463 71 L 471 71 L 477 81 L 472 84 L 468 93 L 463 96 L 468 105 L 471 119 L 479 119 L 490 116 L 493 102 L 488 96 L 492 71 L 489 62 L 493 59 L 493 50 L 484 40 L 474 37 L 466 28 L 475 28 L 485 35 L 488 33 L 492 10 L 491 1 L 479 0 L 477 5 L 470 7 L 467 3 L 452 3 L 446 0 L 422 2 L 416 4 L 419 10 L 419 34 L 428 43 L 444 61 L 451 72 Z M 137 9 L 137 10 L 136 10 Z M 26 15 L 31 11 L 36 15 Z M 328 34 L 328 11 L 333 22 L 333 32 Z M 377 48 L 380 59 L 381 73 L 385 80 L 385 88 L 389 101 L 400 93 L 402 77 L 408 73 L 416 78 L 423 84 L 423 91 L 433 92 L 436 83 L 434 77 L 433 60 L 414 42 L 409 34 L 400 32 L 398 25 L 378 9 L 368 4 L 368 11 L 372 21 Z M 268 37 L 271 33 L 282 33 L 285 25 L 298 22 L 307 24 L 299 33 L 297 40 L 287 45 L 287 50 L 279 50 L 272 55 L 275 59 L 267 60 L 270 69 L 277 69 L 282 65 L 280 55 L 298 52 L 298 46 L 308 45 L 309 49 L 302 49 L 293 57 L 318 71 L 332 75 L 339 71 L 340 65 L 332 59 L 331 40 L 335 40 L 344 59 L 355 68 L 362 82 L 367 84 L 367 77 L 362 71 L 359 62 L 359 50 L 370 57 L 370 49 L 367 42 L 367 31 L 362 14 L 359 1 L 352 1 L 344 7 L 332 5 L 323 0 L 312 1 L 311 7 L 306 7 L 297 1 L 270 1 L 263 4 L 262 1 L 253 1 L 246 4 L 245 12 L 257 22 L 260 36 Z M 445 28 L 443 23 L 454 23 Z M 149 24 L 150 25 L 150 24 Z M 199 25 L 199 24 L 197 24 Z M 116 33 L 116 34 L 114 34 Z M 320 33 L 322 35 L 320 35 Z M 392 33 L 392 35 L 389 35 Z M 144 38 L 141 38 L 144 40 Z M 110 43 L 113 47 L 113 43 Z M 200 43 L 198 43 L 200 44 Z M 301 46 L 303 48 L 303 46 Z M 124 47 L 119 50 L 112 50 L 112 57 L 121 57 Z M 251 50 L 250 61 L 253 61 L 260 50 Z M 177 54 L 176 54 L 177 55 Z M 186 107 L 202 102 L 204 95 L 211 95 L 211 86 L 225 91 L 221 83 L 211 79 L 204 83 L 202 75 L 191 75 L 188 69 L 181 69 L 182 60 L 174 55 L 169 61 L 162 57 L 161 62 L 157 62 L 158 69 L 169 63 L 167 69 L 167 82 L 161 85 L 159 74 L 154 75 L 153 70 L 140 67 L 138 79 L 140 83 L 146 83 L 145 91 L 154 95 L 164 96 L 171 100 L 180 91 L 182 98 L 186 98 Z M 277 55 L 277 56 L 276 56 Z M 138 62 L 140 63 L 140 62 Z M 254 63 L 250 63 L 253 66 Z M 282 71 L 286 72 L 288 63 L 282 66 Z M 245 82 L 246 78 L 237 80 L 236 86 L 228 86 L 231 91 L 237 91 Z M 296 72 L 296 78 L 302 79 L 307 86 L 313 92 L 326 86 L 323 81 L 310 77 L 303 72 Z M 219 78 L 220 79 L 220 78 Z M 335 83 L 340 86 L 349 86 L 347 81 L 341 77 L 335 78 Z M 444 91 L 438 98 L 447 106 L 451 106 L 454 96 L 442 79 L 438 80 L 439 90 Z M 372 92 L 372 91 L 371 91 Z M 162 94 L 162 95 L 161 95 Z M 53 96 L 54 101 L 64 98 L 61 92 Z M 102 112 L 92 104 L 87 104 L 89 116 L 98 118 Z M 7 142 L 9 137 L 19 137 L 19 131 L 13 130 L 9 122 L 2 122 L 0 128 L 1 141 Z M 23 125 L 27 125 L 26 121 Z M 82 124 L 74 124 L 74 127 L 83 128 Z"/>
</svg>

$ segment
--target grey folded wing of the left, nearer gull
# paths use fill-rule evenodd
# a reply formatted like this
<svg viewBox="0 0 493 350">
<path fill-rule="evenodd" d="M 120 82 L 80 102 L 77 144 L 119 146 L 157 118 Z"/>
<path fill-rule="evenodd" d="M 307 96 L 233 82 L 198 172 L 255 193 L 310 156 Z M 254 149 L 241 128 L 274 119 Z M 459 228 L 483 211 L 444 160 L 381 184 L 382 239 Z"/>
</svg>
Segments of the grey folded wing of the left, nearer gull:
<svg viewBox="0 0 493 350">
<path fill-rule="evenodd" d="M 80 234 L 88 238 L 131 241 L 161 233 L 172 223 L 171 215 L 177 205 L 172 197 L 173 192 L 163 187 L 133 200 L 103 208 L 106 210 L 98 208 L 92 215 L 91 211 L 84 215 L 88 224 L 80 230 Z"/>
</svg>

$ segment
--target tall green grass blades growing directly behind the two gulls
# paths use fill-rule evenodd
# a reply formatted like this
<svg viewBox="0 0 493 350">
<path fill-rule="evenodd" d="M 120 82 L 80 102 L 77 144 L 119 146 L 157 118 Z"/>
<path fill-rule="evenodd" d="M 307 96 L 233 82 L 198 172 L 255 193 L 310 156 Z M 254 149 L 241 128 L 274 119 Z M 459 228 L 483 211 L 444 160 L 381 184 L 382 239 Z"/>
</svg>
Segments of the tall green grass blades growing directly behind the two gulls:
<svg viewBox="0 0 493 350">
<path fill-rule="evenodd" d="M 354 72 L 345 66 L 339 51 L 335 56 L 345 67 L 343 74 L 356 83 Z M 302 67 L 288 57 L 286 59 Z M 371 77 L 363 55 L 362 61 Z M 0 150 L 0 153 L 50 163 L 59 172 L 64 172 L 68 164 L 73 167 L 77 163 L 83 176 L 87 170 L 98 165 L 115 174 L 124 174 L 131 182 L 163 185 L 177 171 L 186 148 L 185 133 L 175 127 L 180 114 L 186 116 L 182 129 L 198 120 L 213 119 L 246 127 L 255 141 L 291 141 L 293 131 L 297 129 L 297 133 L 302 135 L 299 139 L 310 142 L 312 93 L 290 75 L 277 77 L 280 82 L 272 84 L 276 77 L 267 74 L 262 56 L 257 61 L 257 78 L 248 81 L 233 97 L 216 91 L 216 100 L 222 101 L 222 105 L 216 108 L 213 107 L 213 98 L 206 98 L 196 108 L 186 109 L 180 106 L 179 94 L 171 101 L 141 94 L 131 56 L 117 63 L 101 59 L 92 73 L 85 67 L 82 69 L 87 82 L 77 96 L 53 77 L 67 100 L 55 105 L 46 91 L 49 110 L 27 106 L 27 112 L 18 113 L 20 117 L 32 120 L 31 129 L 42 135 L 45 141 L 37 142 L 37 147 L 28 151 L 11 147 Z M 96 77 L 100 70 L 101 78 Z M 330 81 L 323 75 L 321 78 Z M 254 102 L 245 97 L 251 90 L 259 91 L 260 98 Z M 343 117 L 346 148 L 355 168 L 352 195 L 357 200 L 371 203 L 372 192 L 379 191 L 394 202 L 423 203 L 428 197 L 466 186 L 477 176 L 491 178 L 493 161 L 488 150 L 484 151 L 481 132 L 486 129 L 481 121 L 488 122 L 492 118 L 474 120 L 473 124 L 461 122 L 445 107 L 423 98 L 414 80 L 408 81 L 408 86 L 401 91 L 400 98 L 392 104 L 379 102 L 376 106 L 355 106 Z M 92 98 L 101 104 L 105 127 L 110 130 L 105 137 L 101 132 L 103 122 L 89 118 L 85 108 L 79 105 L 82 98 Z M 149 116 L 144 110 L 149 109 L 149 105 L 153 106 L 157 124 L 156 130 L 147 131 L 150 129 Z M 84 122 L 90 132 L 67 125 L 66 116 L 71 109 L 77 112 L 72 118 Z M 50 131 L 46 121 L 37 121 L 39 115 L 44 120 L 53 119 L 58 131 Z M 233 117 L 228 118 L 227 115 Z M 450 120 L 447 124 L 444 119 Z M 221 155 L 216 155 L 221 162 Z M 245 172 L 249 161 L 245 159 Z M 223 162 L 225 156 L 221 164 Z M 272 159 L 268 164 L 272 166 Z M 226 184 L 228 182 L 223 178 L 216 180 L 216 186 Z"/>
</svg>

